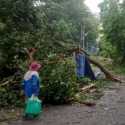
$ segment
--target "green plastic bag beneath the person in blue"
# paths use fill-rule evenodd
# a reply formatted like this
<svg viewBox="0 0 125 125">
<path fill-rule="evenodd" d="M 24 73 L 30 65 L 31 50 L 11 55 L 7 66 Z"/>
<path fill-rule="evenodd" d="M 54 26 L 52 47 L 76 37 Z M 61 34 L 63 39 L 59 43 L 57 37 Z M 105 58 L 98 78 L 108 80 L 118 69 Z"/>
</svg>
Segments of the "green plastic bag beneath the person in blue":
<svg viewBox="0 0 125 125">
<path fill-rule="evenodd" d="M 25 116 L 39 116 L 42 111 L 41 100 L 38 97 L 32 96 L 26 102 Z"/>
</svg>

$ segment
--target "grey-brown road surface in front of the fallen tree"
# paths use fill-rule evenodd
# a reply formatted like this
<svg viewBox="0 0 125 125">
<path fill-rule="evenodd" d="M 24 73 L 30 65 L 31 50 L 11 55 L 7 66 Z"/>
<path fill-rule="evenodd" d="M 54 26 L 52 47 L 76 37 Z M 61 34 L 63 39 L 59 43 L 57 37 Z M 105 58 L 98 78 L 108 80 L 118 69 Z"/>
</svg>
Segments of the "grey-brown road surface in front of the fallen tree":
<svg viewBox="0 0 125 125">
<path fill-rule="evenodd" d="M 114 84 L 94 107 L 82 104 L 48 106 L 37 120 L 1 122 L 0 125 L 125 125 L 125 84 Z"/>
</svg>

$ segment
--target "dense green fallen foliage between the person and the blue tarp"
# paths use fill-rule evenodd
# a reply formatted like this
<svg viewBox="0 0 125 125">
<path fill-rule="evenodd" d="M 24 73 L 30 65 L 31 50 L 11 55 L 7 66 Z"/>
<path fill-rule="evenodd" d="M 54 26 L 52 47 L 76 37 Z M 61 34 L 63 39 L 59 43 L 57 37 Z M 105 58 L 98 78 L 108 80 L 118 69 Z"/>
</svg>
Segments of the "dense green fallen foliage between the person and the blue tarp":
<svg viewBox="0 0 125 125">
<path fill-rule="evenodd" d="M 51 104 L 67 103 L 78 90 L 73 61 L 57 60 L 54 56 L 49 57 L 49 61 L 55 63 L 45 65 L 41 73 L 41 95 Z"/>
</svg>

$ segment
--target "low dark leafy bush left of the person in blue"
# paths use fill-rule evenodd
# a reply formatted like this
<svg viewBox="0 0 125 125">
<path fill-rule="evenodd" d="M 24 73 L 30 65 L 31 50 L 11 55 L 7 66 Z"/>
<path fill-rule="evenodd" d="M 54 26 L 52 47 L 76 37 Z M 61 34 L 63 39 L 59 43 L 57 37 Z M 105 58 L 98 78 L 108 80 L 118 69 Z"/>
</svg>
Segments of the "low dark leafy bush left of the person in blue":
<svg viewBox="0 0 125 125">
<path fill-rule="evenodd" d="M 14 79 L 17 80 L 16 78 Z M 0 107 L 10 106 L 22 106 L 24 102 L 24 96 L 22 93 L 22 87 L 20 83 L 21 79 L 15 83 L 11 81 L 6 86 L 0 87 Z"/>
</svg>

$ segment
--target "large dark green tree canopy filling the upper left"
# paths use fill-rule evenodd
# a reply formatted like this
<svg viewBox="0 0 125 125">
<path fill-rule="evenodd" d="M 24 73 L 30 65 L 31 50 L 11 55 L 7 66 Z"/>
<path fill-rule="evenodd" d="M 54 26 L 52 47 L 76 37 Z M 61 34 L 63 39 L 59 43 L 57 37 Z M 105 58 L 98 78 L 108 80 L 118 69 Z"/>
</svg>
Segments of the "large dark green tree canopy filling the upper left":
<svg viewBox="0 0 125 125">
<path fill-rule="evenodd" d="M 83 0 L 1 0 L 0 64 L 15 64 L 23 48 L 37 47 L 39 58 L 79 45 L 81 24 L 86 41 L 97 38 L 97 20 Z M 71 47 L 71 46 L 68 46 Z"/>
</svg>

